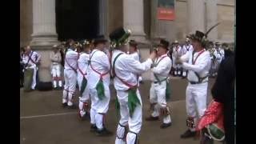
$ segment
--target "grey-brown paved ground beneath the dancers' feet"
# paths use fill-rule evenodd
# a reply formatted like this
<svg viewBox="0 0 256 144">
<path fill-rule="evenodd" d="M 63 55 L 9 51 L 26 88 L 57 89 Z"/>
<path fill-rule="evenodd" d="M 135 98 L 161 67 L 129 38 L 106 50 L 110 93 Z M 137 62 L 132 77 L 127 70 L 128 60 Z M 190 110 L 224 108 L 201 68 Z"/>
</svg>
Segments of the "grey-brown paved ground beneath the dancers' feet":
<svg viewBox="0 0 256 144">
<path fill-rule="evenodd" d="M 210 86 L 214 79 L 210 79 Z M 198 144 L 193 138 L 181 139 L 180 134 L 186 130 L 185 90 L 186 79 L 173 78 L 171 82 L 171 107 L 173 125 L 166 130 L 160 129 L 160 122 L 146 122 L 149 115 L 150 82 L 142 84 L 140 91 L 143 102 L 143 124 L 140 135 L 141 144 L 173 143 Z M 111 86 L 110 89 L 113 89 Z M 106 126 L 114 131 L 118 119 L 114 109 L 114 93 L 110 101 L 110 110 L 106 116 Z M 20 142 L 23 144 L 113 144 L 115 135 L 99 138 L 90 133 L 90 122 L 78 120 L 78 110 L 68 110 L 61 106 L 62 91 L 33 91 L 20 94 Z M 76 102 L 78 98 L 76 97 Z M 49 115 L 50 114 L 50 115 Z"/>
</svg>

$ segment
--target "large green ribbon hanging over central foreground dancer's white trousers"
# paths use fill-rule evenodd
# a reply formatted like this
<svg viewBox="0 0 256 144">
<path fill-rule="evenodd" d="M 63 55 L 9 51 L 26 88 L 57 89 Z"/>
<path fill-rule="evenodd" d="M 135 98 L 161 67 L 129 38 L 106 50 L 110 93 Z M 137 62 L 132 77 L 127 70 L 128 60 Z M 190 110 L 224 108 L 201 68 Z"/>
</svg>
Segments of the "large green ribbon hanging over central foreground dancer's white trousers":
<svg viewBox="0 0 256 144">
<path fill-rule="evenodd" d="M 132 118 L 134 114 L 134 110 L 137 105 L 141 105 L 141 102 L 139 101 L 137 94 L 136 94 L 137 88 L 131 88 L 128 90 L 128 107 L 130 112 L 130 117 Z"/>
</svg>

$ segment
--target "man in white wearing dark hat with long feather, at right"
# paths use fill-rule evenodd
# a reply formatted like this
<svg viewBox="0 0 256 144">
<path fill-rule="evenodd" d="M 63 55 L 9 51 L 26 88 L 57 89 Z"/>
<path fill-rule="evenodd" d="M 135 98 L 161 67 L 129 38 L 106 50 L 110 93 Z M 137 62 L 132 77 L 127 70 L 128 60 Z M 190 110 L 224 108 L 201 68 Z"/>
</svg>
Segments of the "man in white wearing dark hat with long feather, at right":
<svg viewBox="0 0 256 144">
<path fill-rule="evenodd" d="M 189 38 L 192 40 L 194 51 L 189 51 L 181 58 L 176 59 L 176 63 L 188 70 L 186 87 L 186 126 L 188 130 L 181 135 L 181 138 L 194 137 L 195 123 L 198 117 L 202 117 L 206 110 L 208 74 L 210 70 L 210 53 L 205 50 L 206 35 L 201 31 L 196 31 Z M 198 116 L 197 116 L 198 112 Z"/>
</svg>

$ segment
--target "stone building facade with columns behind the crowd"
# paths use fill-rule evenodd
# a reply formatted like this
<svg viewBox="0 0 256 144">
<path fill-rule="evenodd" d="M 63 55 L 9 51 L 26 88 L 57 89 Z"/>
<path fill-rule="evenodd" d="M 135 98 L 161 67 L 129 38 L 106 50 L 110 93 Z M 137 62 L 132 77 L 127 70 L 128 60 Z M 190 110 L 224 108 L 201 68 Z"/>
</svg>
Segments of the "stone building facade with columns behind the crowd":
<svg viewBox="0 0 256 144">
<path fill-rule="evenodd" d="M 64 1 L 76 0 L 20 0 L 20 46 L 30 45 L 42 55 L 39 67 L 42 82 L 51 79 L 49 52 L 61 36 L 58 35 L 56 7 Z M 210 33 L 209 38 L 234 42 L 234 0 L 175 0 L 174 21 L 158 20 L 158 0 L 94 0 L 95 3 L 98 5 L 94 6 L 97 13 L 91 11 L 90 16 L 98 18 L 95 24 L 97 33 L 107 37 L 119 26 L 129 28 L 133 32 L 131 38 L 142 42 L 142 58 L 149 54 L 147 44 L 158 38 L 166 38 L 170 42 L 176 39 L 184 41 L 186 34 L 195 30 L 205 32 L 217 22 L 221 24 Z M 86 6 L 86 3 L 81 5 Z M 73 9 L 76 10 L 76 7 Z M 148 78 L 148 74 L 144 77 Z"/>
</svg>

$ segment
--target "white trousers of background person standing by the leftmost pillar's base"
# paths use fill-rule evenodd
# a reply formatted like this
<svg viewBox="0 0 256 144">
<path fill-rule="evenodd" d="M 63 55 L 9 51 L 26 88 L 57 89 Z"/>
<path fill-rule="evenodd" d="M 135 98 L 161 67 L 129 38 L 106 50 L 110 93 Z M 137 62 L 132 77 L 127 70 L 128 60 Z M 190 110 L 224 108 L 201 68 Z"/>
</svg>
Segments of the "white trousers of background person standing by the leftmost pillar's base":
<svg viewBox="0 0 256 144">
<path fill-rule="evenodd" d="M 57 87 L 57 82 L 58 82 L 58 86 L 62 87 L 62 80 L 60 78 L 61 77 L 61 66 L 59 64 L 51 66 L 51 74 L 53 77 L 54 87 Z"/>
</svg>

